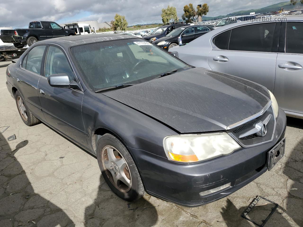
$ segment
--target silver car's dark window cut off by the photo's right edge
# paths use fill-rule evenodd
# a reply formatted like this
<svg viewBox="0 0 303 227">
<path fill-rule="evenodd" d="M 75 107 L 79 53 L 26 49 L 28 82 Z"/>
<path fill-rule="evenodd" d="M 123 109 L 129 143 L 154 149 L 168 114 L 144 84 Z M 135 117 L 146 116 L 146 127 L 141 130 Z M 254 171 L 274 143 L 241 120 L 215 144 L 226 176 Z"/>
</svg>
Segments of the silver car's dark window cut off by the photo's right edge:
<svg viewBox="0 0 303 227">
<path fill-rule="evenodd" d="M 286 23 L 286 53 L 303 54 L 303 23 Z"/>
</svg>

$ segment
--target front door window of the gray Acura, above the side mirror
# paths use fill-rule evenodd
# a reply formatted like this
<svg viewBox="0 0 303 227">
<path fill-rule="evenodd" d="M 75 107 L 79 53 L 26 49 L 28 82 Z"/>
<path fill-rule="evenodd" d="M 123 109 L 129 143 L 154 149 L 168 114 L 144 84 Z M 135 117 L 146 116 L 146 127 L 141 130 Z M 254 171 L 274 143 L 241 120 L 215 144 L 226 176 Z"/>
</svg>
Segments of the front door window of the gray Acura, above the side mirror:
<svg viewBox="0 0 303 227">
<path fill-rule="evenodd" d="M 65 54 L 60 48 L 49 46 L 45 61 L 45 76 L 64 73 L 69 76 L 70 81 L 74 80 L 74 74 Z"/>
</svg>

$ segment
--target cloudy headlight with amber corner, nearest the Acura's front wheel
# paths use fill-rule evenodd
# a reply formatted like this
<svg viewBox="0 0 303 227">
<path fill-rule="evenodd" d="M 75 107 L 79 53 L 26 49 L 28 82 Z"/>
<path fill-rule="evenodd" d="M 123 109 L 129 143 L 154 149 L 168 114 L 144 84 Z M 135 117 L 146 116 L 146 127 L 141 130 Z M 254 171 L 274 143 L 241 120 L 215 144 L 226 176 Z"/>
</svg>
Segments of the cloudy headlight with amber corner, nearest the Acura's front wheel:
<svg viewBox="0 0 303 227">
<path fill-rule="evenodd" d="M 168 136 L 163 146 L 169 160 L 182 163 L 228 155 L 241 147 L 227 133 Z"/>
</svg>

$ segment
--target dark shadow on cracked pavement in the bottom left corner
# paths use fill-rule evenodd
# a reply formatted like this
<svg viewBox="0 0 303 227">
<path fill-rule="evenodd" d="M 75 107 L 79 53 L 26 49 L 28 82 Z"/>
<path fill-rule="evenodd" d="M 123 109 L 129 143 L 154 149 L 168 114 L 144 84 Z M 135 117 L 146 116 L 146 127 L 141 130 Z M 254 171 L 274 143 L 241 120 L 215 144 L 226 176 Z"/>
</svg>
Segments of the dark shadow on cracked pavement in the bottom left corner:
<svg viewBox="0 0 303 227">
<path fill-rule="evenodd" d="M 75 226 L 60 207 L 34 192 L 15 157 L 27 144 L 24 140 L 12 150 L 0 133 L 0 226 Z"/>
</svg>

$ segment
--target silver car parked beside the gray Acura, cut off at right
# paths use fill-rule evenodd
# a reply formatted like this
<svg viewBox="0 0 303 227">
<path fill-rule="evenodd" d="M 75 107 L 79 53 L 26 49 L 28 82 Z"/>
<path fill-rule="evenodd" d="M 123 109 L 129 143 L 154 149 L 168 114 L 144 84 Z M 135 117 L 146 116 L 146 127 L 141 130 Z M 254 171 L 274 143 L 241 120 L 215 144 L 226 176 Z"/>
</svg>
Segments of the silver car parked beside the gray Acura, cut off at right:
<svg viewBox="0 0 303 227">
<path fill-rule="evenodd" d="M 303 18 L 286 19 L 226 25 L 170 51 L 195 67 L 267 87 L 288 116 L 303 118 Z"/>
</svg>

